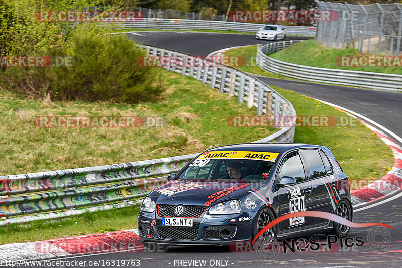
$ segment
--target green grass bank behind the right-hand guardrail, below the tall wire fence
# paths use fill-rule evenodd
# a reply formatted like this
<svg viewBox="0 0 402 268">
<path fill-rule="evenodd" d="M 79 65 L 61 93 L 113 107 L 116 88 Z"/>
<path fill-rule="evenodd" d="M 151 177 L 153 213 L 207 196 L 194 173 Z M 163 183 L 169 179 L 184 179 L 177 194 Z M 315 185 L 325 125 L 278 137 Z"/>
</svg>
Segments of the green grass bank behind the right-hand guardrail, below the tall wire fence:
<svg viewBox="0 0 402 268">
<path fill-rule="evenodd" d="M 389 74 L 402 74 L 401 67 L 343 67 L 336 64 L 336 58 L 339 56 L 357 56 L 357 55 L 373 55 L 368 53 L 359 53 L 357 49 L 331 49 L 320 45 L 315 40 L 307 40 L 300 43 L 296 43 L 284 50 L 270 54 L 269 56 L 280 60 L 294 64 L 331 68 L 331 69 L 343 69 L 353 71 L 364 72 L 376 72 L 376 73 L 389 73 Z"/>
</svg>

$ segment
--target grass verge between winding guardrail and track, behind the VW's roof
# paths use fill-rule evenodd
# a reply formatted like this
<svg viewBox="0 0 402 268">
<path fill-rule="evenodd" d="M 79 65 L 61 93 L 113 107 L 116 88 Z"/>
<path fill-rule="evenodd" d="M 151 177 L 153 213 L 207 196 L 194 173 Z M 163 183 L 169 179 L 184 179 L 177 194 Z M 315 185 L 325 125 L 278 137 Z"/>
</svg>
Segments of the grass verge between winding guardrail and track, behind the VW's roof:
<svg viewBox="0 0 402 268">
<path fill-rule="evenodd" d="M 295 45 L 303 43 L 311 43 L 311 40 Z M 247 64 L 239 67 L 239 69 L 272 77 L 272 74 L 254 66 L 256 53 L 257 46 L 251 46 L 229 50 L 225 52 L 225 55 L 244 56 L 247 59 Z M 298 53 L 297 56 L 299 57 L 306 56 L 303 53 Z M 277 78 L 282 78 L 282 76 L 277 76 Z M 293 104 L 297 116 L 347 116 L 345 113 L 314 99 L 277 87 L 274 88 Z M 353 118 L 351 120 L 350 124 L 342 127 L 297 127 L 294 142 L 329 146 L 351 180 L 365 180 L 367 182 L 379 179 L 393 166 L 392 151 L 371 130 L 357 120 Z M 354 186 L 352 184 L 352 188 Z"/>
</svg>

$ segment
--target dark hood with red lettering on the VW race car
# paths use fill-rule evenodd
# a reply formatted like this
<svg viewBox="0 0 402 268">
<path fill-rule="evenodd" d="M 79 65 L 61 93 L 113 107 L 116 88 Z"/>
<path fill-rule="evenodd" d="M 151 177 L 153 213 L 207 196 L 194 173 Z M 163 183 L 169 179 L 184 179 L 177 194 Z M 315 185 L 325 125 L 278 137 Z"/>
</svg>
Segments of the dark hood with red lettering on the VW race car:
<svg viewBox="0 0 402 268">
<path fill-rule="evenodd" d="M 209 206 L 238 198 L 261 183 L 246 181 L 172 180 L 149 194 L 157 204 Z"/>
</svg>

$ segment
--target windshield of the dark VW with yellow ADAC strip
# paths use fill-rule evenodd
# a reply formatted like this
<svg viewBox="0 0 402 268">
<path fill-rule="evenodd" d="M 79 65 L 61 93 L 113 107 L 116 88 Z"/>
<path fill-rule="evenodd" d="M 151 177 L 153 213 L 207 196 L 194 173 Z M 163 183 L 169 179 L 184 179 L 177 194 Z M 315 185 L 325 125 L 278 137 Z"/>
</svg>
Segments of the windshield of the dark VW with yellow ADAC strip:
<svg viewBox="0 0 402 268">
<path fill-rule="evenodd" d="M 233 157 L 230 157 L 231 155 Z M 277 155 L 266 152 L 206 152 L 191 162 L 178 179 L 265 180 L 271 172 Z M 256 159 L 247 159 L 247 157 Z"/>
</svg>

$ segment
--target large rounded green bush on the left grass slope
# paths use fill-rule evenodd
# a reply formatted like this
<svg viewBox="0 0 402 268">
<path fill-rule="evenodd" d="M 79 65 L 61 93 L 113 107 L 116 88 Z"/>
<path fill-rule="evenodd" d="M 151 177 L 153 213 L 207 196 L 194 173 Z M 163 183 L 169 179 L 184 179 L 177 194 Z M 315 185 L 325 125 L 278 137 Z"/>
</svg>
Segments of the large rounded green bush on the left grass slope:
<svg viewBox="0 0 402 268">
<path fill-rule="evenodd" d="M 138 66 L 145 51 L 121 35 L 76 30 L 68 44 L 30 55 L 72 56 L 72 66 L 10 67 L 0 73 L 12 91 L 50 100 L 112 100 L 139 102 L 153 99 L 162 86 L 157 68 Z"/>
</svg>

